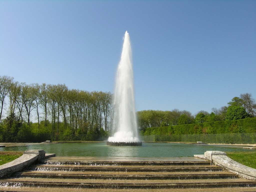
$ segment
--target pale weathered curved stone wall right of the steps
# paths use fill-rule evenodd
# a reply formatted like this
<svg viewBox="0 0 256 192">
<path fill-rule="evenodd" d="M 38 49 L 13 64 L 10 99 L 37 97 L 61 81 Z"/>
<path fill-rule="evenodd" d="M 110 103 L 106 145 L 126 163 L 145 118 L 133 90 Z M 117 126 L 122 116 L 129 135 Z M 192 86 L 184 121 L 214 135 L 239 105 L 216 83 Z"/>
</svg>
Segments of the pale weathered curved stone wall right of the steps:
<svg viewBox="0 0 256 192">
<path fill-rule="evenodd" d="M 206 151 L 204 155 L 194 155 L 194 157 L 210 160 L 212 164 L 221 166 L 229 172 L 236 173 L 241 178 L 256 180 L 256 169 L 234 161 L 223 151 Z"/>
</svg>

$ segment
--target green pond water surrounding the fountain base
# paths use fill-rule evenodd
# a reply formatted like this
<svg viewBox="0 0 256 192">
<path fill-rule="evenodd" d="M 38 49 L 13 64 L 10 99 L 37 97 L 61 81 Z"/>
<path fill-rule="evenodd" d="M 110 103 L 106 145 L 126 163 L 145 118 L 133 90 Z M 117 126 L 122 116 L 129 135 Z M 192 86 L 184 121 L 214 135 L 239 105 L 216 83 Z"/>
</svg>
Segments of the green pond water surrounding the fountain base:
<svg viewBox="0 0 256 192">
<path fill-rule="evenodd" d="M 0 151 L 44 150 L 56 156 L 89 157 L 193 157 L 206 151 L 250 151 L 242 146 L 227 147 L 184 143 L 143 143 L 137 147 L 107 146 L 106 143 L 51 143 L 17 147 L 1 147 Z"/>
</svg>

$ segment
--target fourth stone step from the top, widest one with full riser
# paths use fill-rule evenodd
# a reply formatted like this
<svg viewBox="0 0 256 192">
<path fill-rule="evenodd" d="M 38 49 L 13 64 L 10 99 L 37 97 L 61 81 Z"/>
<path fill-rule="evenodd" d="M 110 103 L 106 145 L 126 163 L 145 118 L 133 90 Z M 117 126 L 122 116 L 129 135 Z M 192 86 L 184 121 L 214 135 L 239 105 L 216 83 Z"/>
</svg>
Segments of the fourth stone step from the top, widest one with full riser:
<svg viewBox="0 0 256 192">
<path fill-rule="evenodd" d="M 104 180 L 104 179 L 6 179 L 0 182 L 5 187 L 58 187 L 58 188 L 104 188 L 104 189 L 170 189 L 170 188 L 216 188 L 216 187 L 255 187 L 256 181 L 247 179 L 204 179 L 204 180 Z"/>
</svg>

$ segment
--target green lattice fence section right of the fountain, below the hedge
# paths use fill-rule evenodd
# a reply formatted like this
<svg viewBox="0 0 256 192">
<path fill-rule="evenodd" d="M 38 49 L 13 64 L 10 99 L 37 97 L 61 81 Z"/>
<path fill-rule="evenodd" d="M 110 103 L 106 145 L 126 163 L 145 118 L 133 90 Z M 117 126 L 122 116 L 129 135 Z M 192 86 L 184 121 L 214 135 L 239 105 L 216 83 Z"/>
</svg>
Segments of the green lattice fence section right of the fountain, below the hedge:
<svg viewBox="0 0 256 192">
<path fill-rule="evenodd" d="M 255 144 L 256 133 L 228 133 L 201 135 L 144 135 L 140 139 L 145 142 L 197 142 Z"/>
</svg>

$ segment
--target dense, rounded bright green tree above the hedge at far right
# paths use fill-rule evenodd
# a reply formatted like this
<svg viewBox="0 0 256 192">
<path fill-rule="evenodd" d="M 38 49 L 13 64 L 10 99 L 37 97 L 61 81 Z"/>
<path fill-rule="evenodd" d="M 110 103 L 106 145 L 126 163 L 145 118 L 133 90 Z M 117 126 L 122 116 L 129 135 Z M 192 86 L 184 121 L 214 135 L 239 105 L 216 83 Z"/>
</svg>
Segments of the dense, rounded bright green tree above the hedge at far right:
<svg viewBox="0 0 256 192">
<path fill-rule="evenodd" d="M 249 117 L 249 114 L 243 107 L 229 106 L 226 113 L 226 120 L 238 120 Z"/>
</svg>

